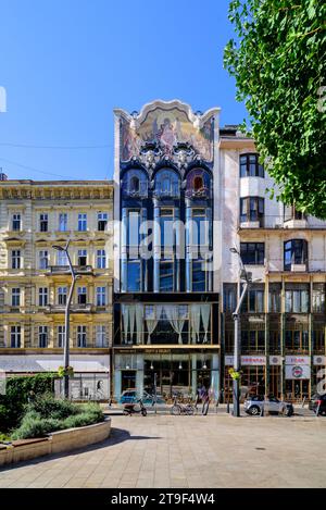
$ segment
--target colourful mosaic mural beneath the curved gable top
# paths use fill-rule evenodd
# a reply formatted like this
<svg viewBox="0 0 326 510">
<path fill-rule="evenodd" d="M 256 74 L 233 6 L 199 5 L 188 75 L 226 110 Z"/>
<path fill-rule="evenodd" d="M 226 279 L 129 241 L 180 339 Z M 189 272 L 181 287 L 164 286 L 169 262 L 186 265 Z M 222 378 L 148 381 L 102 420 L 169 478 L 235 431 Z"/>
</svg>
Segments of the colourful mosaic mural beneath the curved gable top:
<svg viewBox="0 0 326 510">
<path fill-rule="evenodd" d="M 172 154 L 176 144 L 190 144 L 205 161 L 213 160 L 213 120 L 209 119 L 201 129 L 197 129 L 185 112 L 155 109 L 148 113 L 138 129 L 121 120 L 121 160 L 128 161 L 139 154 L 145 142 L 158 144 L 165 154 Z"/>
</svg>

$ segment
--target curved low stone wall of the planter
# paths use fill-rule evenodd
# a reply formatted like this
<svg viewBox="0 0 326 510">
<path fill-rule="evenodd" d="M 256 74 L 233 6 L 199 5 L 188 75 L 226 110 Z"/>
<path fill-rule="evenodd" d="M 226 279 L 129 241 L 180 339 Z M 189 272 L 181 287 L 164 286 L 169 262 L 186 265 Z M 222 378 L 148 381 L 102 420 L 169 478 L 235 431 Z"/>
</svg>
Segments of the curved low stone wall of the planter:
<svg viewBox="0 0 326 510">
<path fill-rule="evenodd" d="M 53 432 L 49 437 L 13 441 L 9 446 L 0 445 L 0 465 L 93 445 L 106 439 L 110 432 L 111 418 L 105 418 L 101 423 Z"/>
</svg>

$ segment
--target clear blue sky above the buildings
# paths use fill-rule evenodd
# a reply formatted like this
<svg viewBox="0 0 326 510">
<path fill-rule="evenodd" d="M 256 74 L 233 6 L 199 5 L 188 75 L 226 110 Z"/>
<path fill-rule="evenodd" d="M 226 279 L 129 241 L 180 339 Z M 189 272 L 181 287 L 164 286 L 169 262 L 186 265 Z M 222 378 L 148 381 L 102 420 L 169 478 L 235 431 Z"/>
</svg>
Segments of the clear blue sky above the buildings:
<svg viewBox="0 0 326 510">
<path fill-rule="evenodd" d="M 241 122 L 223 69 L 227 10 L 228 0 L 1 0 L 0 167 L 10 178 L 112 178 L 113 108 L 158 98 Z"/>
</svg>

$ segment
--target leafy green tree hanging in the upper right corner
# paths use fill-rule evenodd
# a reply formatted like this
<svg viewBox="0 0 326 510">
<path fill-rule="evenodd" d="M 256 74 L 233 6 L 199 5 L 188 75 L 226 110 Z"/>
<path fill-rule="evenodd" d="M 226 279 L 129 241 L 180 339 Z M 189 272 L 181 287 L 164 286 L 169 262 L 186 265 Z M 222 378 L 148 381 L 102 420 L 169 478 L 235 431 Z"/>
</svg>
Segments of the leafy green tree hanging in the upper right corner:
<svg viewBox="0 0 326 510">
<path fill-rule="evenodd" d="M 234 0 L 229 20 L 224 63 L 278 198 L 326 219 L 326 3 Z"/>
</svg>

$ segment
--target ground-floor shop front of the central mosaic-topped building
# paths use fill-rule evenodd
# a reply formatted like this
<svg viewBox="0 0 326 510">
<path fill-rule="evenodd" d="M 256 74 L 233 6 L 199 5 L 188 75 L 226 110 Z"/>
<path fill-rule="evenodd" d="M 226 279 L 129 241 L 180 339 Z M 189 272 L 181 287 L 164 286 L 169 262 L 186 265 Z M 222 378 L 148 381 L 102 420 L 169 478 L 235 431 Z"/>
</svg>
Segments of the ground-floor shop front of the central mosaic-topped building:
<svg viewBox="0 0 326 510">
<path fill-rule="evenodd" d="M 113 366 L 116 401 L 127 389 L 136 389 L 140 397 L 153 395 L 155 387 L 164 400 L 174 396 L 195 399 L 202 386 L 210 391 L 212 399 L 218 396 L 220 356 L 216 350 L 114 350 Z"/>
</svg>

